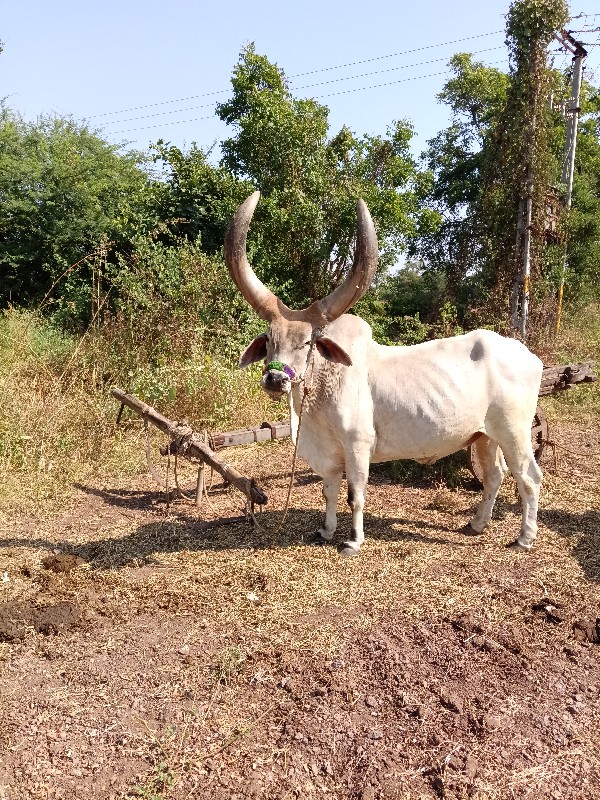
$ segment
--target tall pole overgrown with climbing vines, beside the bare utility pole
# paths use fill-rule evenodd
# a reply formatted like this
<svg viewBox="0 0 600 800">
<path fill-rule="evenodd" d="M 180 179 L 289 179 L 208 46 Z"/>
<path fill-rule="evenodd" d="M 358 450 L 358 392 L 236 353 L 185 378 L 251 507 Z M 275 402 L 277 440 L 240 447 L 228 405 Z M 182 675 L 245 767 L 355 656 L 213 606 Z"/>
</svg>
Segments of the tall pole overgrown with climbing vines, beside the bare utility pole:
<svg viewBox="0 0 600 800">
<path fill-rule="evenodd" d="M 554 318 L 555 291 L 546 269 L 545 227 L 547 197 L 560 163 L 552 150 L 549 100 L 553 74 L 547 66 L 547 48 L 567 20 L 565 0 L 515 0 L 510 6 L 506 24 L 510 89 L 487 161 L 479 204 L 481 219 L 491 228 L 491 236 L 486 232 L 490 243 L 484 249 L 485 278 L 491 289 L 487 305 L 507 309 L 502 301 L 509 297 L 511 286 L 513 291 L 521 291 L 522 278 L 517 274 L 526 247 L 524 235 L 514 235 L 515 221 L 521 213 L 524 231 L 525 207 L 531 202 L 529 329 L 538 343 L 550 332 Z"/>
</svg>

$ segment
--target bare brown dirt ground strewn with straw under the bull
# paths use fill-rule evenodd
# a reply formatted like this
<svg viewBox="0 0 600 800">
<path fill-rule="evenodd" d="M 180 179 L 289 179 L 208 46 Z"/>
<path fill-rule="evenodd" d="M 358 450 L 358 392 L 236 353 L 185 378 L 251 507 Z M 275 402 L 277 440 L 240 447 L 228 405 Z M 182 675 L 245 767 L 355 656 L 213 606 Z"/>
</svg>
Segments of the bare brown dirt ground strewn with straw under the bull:
<svg viewBox="0 0 600 800">
<path fill-rule="evenodd" d="M 241 512 L 221 484 L 199 516 L 145 476 L 6 516 L 0 798 L 598 797 L 600 431 L 579 427 L 552 430 L 528 555 L 504 547 L 512 480 L 467 538 L 467 477 L 377 468 L 343 560 L 307 543 L 300 464 L 277 531 L 286 442 L 228 452 L 269 495 L 262 530 L 202 526 Z"/>
</svg>

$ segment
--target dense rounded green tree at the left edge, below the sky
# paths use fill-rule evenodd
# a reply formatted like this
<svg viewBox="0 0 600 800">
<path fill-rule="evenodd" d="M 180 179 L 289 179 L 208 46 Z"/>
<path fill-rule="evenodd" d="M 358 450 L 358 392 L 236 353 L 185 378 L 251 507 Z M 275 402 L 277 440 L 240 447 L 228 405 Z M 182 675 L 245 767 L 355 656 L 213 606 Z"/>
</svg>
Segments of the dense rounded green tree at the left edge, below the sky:
<svg viewBox="0 0 600 800">
<path fill-rule="evenodd" d="M 36 303 L 72 270 L 61 303 L 91 304 L 87 257 L 102 240 L 122 242 L 147 177 L 141 157 L 120 155 L 68 119 L 0 117 L 0 306 Z"/>
</svg>

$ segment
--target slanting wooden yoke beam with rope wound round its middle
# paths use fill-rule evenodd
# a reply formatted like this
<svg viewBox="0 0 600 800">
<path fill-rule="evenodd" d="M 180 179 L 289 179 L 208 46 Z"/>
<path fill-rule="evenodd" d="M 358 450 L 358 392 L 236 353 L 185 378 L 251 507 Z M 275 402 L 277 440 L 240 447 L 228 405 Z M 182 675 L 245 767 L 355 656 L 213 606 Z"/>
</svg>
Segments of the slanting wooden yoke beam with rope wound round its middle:
<svg viewBox="0 0 600 800">
<path fill-rule="evenodd" d="M 200 434 L 195 433 L 189 425 L 164 417 L 152 406 L 143 403 L 131 394 L 127 394 L 118 387 L 112 390 L 112 395 L 120 401 L 122 405 L 127 406 L 136 414 L 139 414 L 142 419 L 148 420 L 163 433 L 171 439 L 175 445 L 178 455 L 184 457 L 197 458 L 205 464 L 211 466 L 216 470 L 226 481 L 233 484 L 236 489 L 239 489 L 252 504 L 264 506 L 268 502 L 267 495 L 258 486 L 254 480 L 246 478 L 241 472 L 233 467 L 231 464 L 226 464 L 222 461 L 217 454 L 202 441 Z"/>
</svg>

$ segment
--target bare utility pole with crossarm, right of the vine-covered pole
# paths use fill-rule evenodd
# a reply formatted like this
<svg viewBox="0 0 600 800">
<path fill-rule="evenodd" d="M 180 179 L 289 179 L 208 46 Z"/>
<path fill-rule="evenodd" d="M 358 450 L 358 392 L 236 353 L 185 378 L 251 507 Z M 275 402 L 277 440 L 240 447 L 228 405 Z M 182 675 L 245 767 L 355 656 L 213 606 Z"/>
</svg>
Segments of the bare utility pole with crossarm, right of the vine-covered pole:
<svg viewBox="0 0 600 800">
<path fill-rule="evenodd" d="M 568 214 L 571 209 L 571 198 L 573 195 L 573 173 L 575 171 L 575 149 L 577 147 L 577 126 L 579 124 L 579 95 L 581 92 L 581 78 L 583 74 L 583 60 L 587 56 L 587 50 L 576 41 L 568 31 L 561 31 L 556 34 L 556 39 L 569 52 L 573 53 L 573 75 L 571 78 L 571 100 L 567 109 L 567 140 L 565 142 L 565 158 L 561 175 L 561 183 L 566 185 L 565 210 Z M 558 308 L 556 311 L 556 333 L 560 330 L 562 314 L 562 301 L 565 286 L 565 275 L 567 272 L 567 238 L 563 246 L 563 261 L 560 272 L 560 285 L 558 287 Z"/>
</svg>

